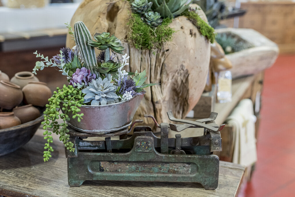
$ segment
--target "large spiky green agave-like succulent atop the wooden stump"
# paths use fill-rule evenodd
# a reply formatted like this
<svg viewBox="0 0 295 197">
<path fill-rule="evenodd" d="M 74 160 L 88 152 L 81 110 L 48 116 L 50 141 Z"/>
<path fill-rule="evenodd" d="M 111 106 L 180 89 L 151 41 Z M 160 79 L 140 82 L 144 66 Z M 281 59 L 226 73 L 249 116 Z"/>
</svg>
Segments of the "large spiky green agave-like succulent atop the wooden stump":
<svg viewBox="0 0 295 197">
<path fill-rule="evenodd" d="M 152 9 L 155 12 L 159 12 L 163 18 L 173 18 L 182 14 L 186 9 L 189 8 L 191 1 L 188 0 L 148 0 L 153 2 Z"/>
</svg>

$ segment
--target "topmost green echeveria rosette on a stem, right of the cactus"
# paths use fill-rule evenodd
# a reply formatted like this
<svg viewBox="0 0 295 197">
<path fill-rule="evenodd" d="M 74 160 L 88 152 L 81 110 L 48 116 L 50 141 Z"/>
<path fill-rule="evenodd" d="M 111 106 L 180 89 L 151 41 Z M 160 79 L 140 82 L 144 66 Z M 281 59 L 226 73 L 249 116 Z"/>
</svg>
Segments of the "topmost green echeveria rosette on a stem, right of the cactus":
<svg viewBox="0 0 295 197">
<path fill-rule="evenodd" d="M 122 51 L 125 48 L 122 46 L 121 41 L 114 35 L 110 37 L 110 33 L 106 33 L 106 32 L 103 32 L 101 34 L 96 33 L 94 35 L 94 39 L 96 41 L 89 40 L 88 45 L 97 47 L 99 50 L 106 50 L 107 48 L 110 48 L 114 52 L 123 54 Z"/>
</svg>

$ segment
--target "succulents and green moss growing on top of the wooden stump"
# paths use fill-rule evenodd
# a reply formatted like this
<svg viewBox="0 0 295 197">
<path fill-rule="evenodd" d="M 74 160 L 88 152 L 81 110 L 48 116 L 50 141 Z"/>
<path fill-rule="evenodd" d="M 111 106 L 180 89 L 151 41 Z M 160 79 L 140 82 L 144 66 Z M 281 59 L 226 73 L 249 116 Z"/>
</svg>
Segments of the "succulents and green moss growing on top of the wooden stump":
<svg viewBox="0 0 295 197">
<path fill-rule="evenodd" d="M 168 25 L 174 17 L 183 15 L 190 19 L 202 35 L 214 42 L 214 29 L 204 22 L 195 10 L 189 8 L 193 0 L 130 0 L 131 18 L 129 41 L 136 48 L 161 48 L 172 40 L 175 32 Z"/>
</svg>

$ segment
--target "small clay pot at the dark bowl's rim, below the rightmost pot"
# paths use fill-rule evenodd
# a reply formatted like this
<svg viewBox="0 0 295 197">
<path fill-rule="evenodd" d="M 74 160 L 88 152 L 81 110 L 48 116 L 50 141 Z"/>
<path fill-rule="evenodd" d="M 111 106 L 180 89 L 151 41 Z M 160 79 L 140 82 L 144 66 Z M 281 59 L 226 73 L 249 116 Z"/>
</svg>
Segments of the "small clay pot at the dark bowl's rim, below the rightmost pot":
<svg viewBox="0 0 295 197">
<path fill-rule="evenodd" d="M 40 116 L 39 109 L 32 106 L 32 104 L 15 107 L 12 112 L 14 112 L 14 115 L 20 119 L 22 124 L 35 120 Z"/>
</svg>

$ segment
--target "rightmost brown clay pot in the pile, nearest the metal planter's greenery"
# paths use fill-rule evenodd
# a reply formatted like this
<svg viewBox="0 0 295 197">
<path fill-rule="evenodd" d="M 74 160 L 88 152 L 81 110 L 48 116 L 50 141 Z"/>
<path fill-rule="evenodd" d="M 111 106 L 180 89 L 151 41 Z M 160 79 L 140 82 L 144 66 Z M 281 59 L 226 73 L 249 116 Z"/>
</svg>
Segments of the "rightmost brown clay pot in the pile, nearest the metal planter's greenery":
<svg viewBox="0 0 295 197">
<path fill-rule="evenodd" d="M 48 98 L 51 97 L 51 90 L 44 82 L 29 82 L 24 88 L 24 102 L 35 106 L 44 107 L 48 103 Z"/>
</svg>

